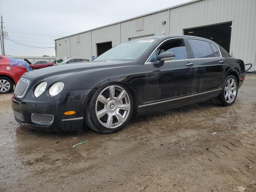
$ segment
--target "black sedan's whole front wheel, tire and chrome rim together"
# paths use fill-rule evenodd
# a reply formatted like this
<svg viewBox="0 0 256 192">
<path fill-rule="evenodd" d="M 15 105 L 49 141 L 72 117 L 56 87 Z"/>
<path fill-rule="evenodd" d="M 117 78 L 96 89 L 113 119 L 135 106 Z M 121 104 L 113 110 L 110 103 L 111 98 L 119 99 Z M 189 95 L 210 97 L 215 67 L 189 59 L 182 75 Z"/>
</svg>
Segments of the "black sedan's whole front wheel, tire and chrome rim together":
<svg viewBox="0 0 256 192">
<path fill-rule="evenodd" d="M 101 133 L 114 133 L 131 119 L 133 98 L 130 91 L 118 83 L 102 86 L 92 96 L 84 114 L 85 124 Z"/>
</svg>

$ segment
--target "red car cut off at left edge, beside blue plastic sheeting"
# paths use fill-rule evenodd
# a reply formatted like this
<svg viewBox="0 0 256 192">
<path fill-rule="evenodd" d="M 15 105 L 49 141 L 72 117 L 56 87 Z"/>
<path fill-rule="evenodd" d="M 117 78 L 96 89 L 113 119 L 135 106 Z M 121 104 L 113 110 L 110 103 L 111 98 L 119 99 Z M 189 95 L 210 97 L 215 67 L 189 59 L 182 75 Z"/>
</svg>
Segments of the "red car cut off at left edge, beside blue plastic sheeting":
<svg viewBox="0 0 256 192">
<path fill-rule="evenodd" d="M 25 72 L 27 72 L 26 68 L 10 66 L 9 58 L 0 55 L 0 94 L 11 92 Z"/>
</svg>

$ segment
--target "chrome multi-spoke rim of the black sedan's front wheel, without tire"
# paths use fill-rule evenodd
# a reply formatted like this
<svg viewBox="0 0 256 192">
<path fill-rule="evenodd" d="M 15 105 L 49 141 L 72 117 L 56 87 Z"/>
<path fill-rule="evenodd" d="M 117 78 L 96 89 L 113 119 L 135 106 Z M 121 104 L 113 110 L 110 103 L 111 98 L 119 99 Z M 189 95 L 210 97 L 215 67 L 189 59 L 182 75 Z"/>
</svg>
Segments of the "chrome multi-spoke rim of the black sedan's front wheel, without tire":
<svg viewBox="0 0 256 192">
<path fill-rule="evenodd" d="M 130 98 L 126 90 L 111 85 L 100 92 L 96 100 L 96 116 L 106 128 L 121 126 L 130 113 Z"/>
</svg>

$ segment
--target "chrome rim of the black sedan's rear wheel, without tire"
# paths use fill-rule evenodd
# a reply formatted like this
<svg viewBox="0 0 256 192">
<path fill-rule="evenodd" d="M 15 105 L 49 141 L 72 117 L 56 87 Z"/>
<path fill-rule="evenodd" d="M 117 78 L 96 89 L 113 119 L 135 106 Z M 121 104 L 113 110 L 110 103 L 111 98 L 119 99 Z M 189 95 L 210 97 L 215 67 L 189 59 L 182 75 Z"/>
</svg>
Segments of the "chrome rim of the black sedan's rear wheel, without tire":
<svg viewBox="0 0 256 192">
<path fill-rule="evenodd" d="M 224 94 L 225 94 L 225 100 L 228 103 L 232 103 L 234 99 L 236 98 L 236 81 L 233 78 L 229 78 L 228 81 L 225 84 Z"/>
</svg>

